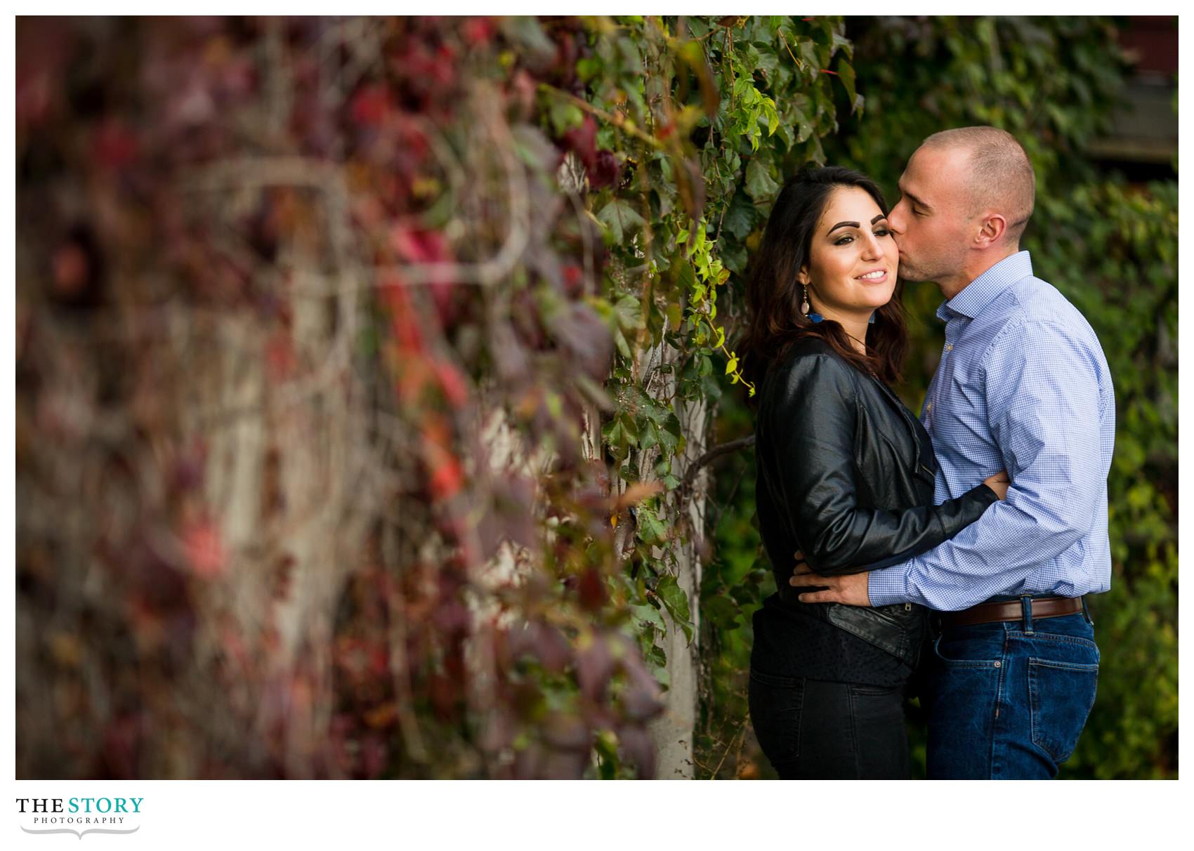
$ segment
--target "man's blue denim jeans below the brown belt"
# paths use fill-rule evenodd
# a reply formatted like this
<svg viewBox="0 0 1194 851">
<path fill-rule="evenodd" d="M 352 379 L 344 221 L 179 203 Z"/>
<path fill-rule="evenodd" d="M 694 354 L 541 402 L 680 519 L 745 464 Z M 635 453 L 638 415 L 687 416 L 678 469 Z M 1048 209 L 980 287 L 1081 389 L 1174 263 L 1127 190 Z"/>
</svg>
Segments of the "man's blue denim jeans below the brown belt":
<svg viewBox="0 0 1194 851">
<path fill-rule="evenodd" d="M 950 627 L 928 660 L 931 779 L 1051 779 L 1095 703 L 1085 610 Z"/>
</svg>

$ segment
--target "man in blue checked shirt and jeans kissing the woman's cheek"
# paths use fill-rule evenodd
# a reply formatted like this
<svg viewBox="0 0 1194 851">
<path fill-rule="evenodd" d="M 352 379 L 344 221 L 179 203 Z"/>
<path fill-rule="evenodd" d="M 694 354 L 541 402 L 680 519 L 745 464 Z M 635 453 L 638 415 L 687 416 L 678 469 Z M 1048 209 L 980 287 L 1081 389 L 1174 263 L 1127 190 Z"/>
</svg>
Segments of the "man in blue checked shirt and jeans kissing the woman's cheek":
<svg viewBox="0 0 1194 851">
<path fill-rule="evenodd" d="M 1054 777 L 1095 699 L 1082 596 L 1110 587 L 1107 360 L 1020 251 L 1035 179 L 1015 138 L 989 127 L 935 134 L 899 187 L 888 222 L 900 276 L 936 282 L 946 297 L 946 345 L 921 413 L 940 462 L 935 499 L 999 469 L 1011 486 L 953 539 L 900 565 L 819 576 L 798 563 L 789 581 L 825 588 L 806 603 L 936 610 L 930 777 Z"/>
</svg>

